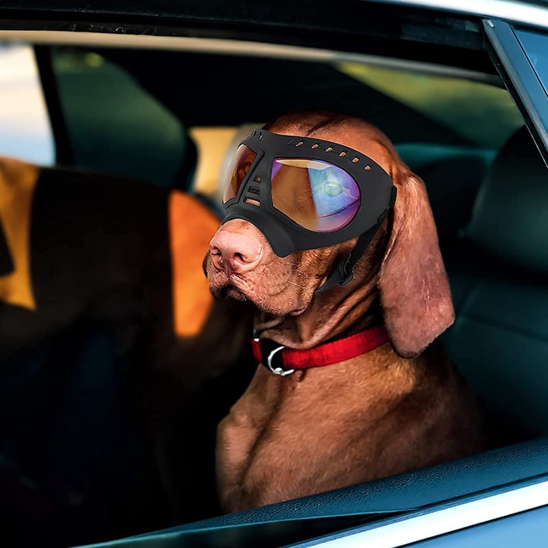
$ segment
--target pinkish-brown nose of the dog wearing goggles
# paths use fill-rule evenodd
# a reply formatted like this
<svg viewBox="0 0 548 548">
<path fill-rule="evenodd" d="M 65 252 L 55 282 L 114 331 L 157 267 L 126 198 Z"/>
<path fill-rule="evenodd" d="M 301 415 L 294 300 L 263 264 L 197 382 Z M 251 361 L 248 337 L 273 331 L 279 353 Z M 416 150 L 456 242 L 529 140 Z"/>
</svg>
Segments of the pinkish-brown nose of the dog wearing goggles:
<svg viewBox="0 0 548 548">
<path fill-rule="evenodd" d="M 254 268 L 262 253 L 260 242 L 249 236 L 221 229 L 210 242 L 210 255 L 216 269 L 242 273 Z"/>
</svg>

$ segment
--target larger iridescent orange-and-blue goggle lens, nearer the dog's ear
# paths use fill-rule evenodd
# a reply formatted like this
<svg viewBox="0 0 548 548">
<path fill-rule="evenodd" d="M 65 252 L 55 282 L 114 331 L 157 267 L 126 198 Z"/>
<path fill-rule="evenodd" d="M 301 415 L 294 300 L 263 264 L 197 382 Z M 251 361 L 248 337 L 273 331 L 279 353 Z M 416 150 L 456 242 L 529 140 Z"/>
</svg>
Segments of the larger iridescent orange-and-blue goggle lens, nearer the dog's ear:
<svg viewBox="0 0 548 548">
<path fill-rule="evenodd" d="M 343 169 L 306 158 L 276 158 L 272 203 L 301 227 L 334 232 L 353 219 L 360 205 L 356 181 Z"/>
</svg>

